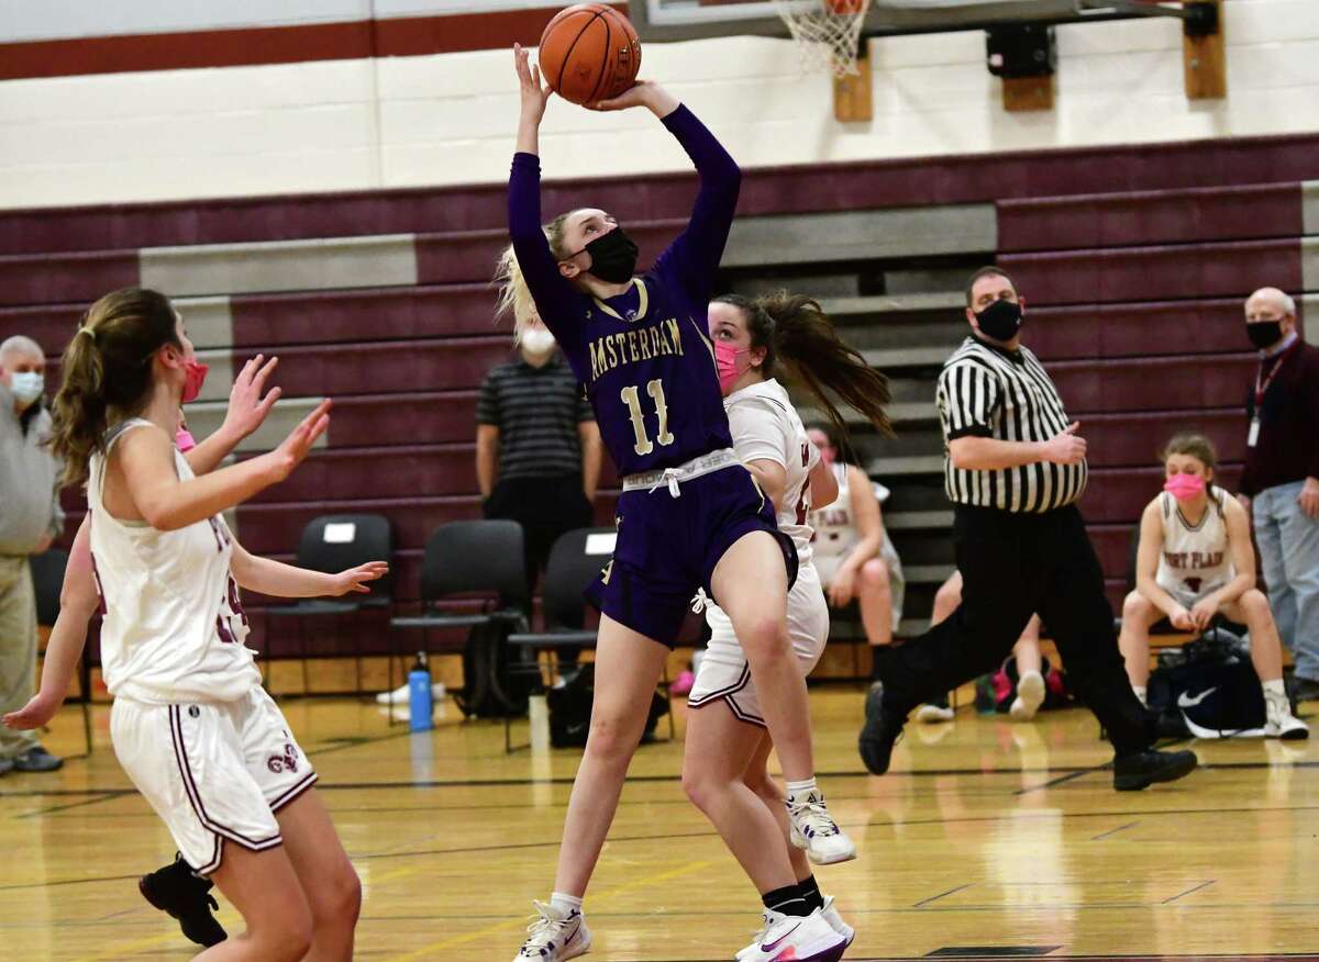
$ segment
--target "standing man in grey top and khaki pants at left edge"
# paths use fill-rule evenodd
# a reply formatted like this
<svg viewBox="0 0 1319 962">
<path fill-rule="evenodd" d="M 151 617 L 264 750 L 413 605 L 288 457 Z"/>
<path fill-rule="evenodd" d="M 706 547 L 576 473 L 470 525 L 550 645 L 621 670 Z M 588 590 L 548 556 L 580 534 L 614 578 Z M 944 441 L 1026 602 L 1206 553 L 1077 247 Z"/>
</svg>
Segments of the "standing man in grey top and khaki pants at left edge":
<svg viewBox="0 0 1319 962">
<path fill-rule="evenodd" d="M 28 557 L 65 530 L 59 463 L 45 447 L 45 374 L 46 356 L 34 340 L 13 336 L 0 344 L 0 716 L 21 709 L 37 691 L 37 596 Z M 34 733 L 0 726 L 0 775 L 61 764 Z"/>
</svg>

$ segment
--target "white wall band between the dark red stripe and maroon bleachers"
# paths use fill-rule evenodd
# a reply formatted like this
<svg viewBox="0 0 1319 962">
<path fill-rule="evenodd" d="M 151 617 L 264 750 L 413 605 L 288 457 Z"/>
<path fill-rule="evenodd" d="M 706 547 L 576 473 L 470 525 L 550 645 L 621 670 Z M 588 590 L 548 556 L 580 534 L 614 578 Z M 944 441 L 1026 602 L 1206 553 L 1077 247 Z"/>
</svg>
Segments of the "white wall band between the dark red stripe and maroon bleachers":
<svg viewBox="0 0 1319 962">
<path fill-rule="evenodd" d="M 1186 99 L 1171 20 L 1059 28 L 1058 96 L 1043 113 L 1004 112 L 973 32 L 874 41 L 869 124 L 834 121 L 828 78 L 801 76 L 787 41 L 653 43 L 642 74 L 744 166 L 1319 130 L 1319 0 L 1224 9 L 1221 101 Z M 4 82 L 0 207 L 501 181 L 517 121 L 510 61 L 488 50 Z M 562 101 L 542 154 L 551 177 L 689 167 L 649 115 Z"/>
</svg>

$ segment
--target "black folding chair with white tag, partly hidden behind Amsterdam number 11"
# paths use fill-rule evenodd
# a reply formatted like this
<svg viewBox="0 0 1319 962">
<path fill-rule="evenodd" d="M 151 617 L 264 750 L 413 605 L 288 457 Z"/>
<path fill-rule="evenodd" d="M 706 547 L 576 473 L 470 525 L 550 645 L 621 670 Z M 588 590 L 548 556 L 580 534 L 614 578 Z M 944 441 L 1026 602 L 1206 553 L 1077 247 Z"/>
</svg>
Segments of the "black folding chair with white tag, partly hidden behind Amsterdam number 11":
<svg viewBox="0 0 1319 962">
<path fill-rule="evenodd" d="M 615 528 L 578 528 L 568 531 L 554 542 L 550 560 L 545 565 L 545 631 L 509 635 L 508 644 L 513 648 L 530 651 L 532 658 L 514 662 L 509 671 L 522 675 L 541 676 L 541 663 L 536 656 L 541 651 L 558 652 L 568 647 L 594 648 L 596 631 L 582 630 L 586 600 L 582 593 L 599 576 L 600 569 L 613 556 Z M 513 662 L 513 659 L 510 659 Z M 669 701 L 669 671 L 663 673 L 663 698 Z M 513 745 L 513 722 L 504 718 L 504 751 L 520 751 L 528 745 Z M 673 720 L 673 704 L 669 704 L 669 737 L 674 738 L 677 729 Z"/>
</svg>

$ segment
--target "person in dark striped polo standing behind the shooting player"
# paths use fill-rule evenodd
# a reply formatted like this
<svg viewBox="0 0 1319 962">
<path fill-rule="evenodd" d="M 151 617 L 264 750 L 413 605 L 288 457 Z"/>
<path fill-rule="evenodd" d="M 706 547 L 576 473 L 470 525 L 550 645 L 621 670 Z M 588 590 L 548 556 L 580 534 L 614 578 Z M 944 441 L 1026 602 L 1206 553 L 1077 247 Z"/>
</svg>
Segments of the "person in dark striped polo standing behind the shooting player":
<svg viewBox="0 0 1319 962">
<path fill-rule="evenodd" d="M 534 306 L 518 360 L 492 368 L 476 402 L 476 480 L 487 518 L 522 526 L 526 581 L 545 568 L 559 535 L 590 527 L 600 481 L 600 430 L 554 335 Z M 565 662 L 576 652 L 561 652 Z"/>
</svg>

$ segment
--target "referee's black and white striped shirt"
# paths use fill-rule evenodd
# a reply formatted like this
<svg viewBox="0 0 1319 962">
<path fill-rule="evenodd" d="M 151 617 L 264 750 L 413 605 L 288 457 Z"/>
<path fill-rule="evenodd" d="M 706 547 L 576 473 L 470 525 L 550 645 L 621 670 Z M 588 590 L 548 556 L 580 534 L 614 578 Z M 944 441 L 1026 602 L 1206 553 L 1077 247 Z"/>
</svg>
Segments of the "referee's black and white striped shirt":
<svg viewBox="0 0 1319 962">
<path fill-rule="evenodd" d="M 1058 389 L 1026 348 L 1016 352 L 967 337 L 943 364 L 935 394 L 944 451 L 969 435 L 1001 441 L 1046 441 L 1070 423 Z M 1086 490 L 1086 463 L 1037 461 L 1020 468 L 943 469 L 944 490 L 958 505 L 1002 511 L 1051 511 Z"/>
</svg>

